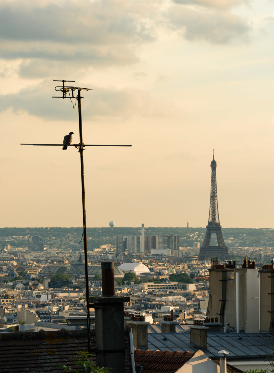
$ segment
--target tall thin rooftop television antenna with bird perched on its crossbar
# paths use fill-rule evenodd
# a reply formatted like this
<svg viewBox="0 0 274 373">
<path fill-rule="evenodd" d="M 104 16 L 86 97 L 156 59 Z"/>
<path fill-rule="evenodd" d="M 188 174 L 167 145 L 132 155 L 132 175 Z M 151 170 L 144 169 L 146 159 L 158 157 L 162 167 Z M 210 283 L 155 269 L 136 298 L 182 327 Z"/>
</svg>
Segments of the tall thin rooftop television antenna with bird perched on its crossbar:
<svg viewBox="0 0 274 373">
<path fill-rule="evenodd" d="M 89 286 L 88 286 L 88 249 L 86 243 L 86 204 L 85 204 L 85 179 L 84 179 L 84 147 L 86 146 L 112 146 L 112 147 L 130 147 L 131 145 L 109 145 L 109 144 L 84 144 L 83 143 L 83 134 L 82 134 L 82 110 L 81 110 L 81 91 L 89 91 L 92 88 L 81 88 L 81 87 L 73 87 L 73 86 L 65 86 L 65 82 L 75 82 L 75 80 L 54 80 L 54 82 L 63 82 L 62 86 L 55 87 L 57 92 L 62 92 L 62 96 L 52 96 L 53 98 L 70 98 L 75 99 L 75 105 L 73 105 L 73 109 L 75 109 L 76 103 L 78 102 L 78 117 L 79 117 L 79 136 L 80 142 L 79 144 L 70 144 L 67 146 L 74 146 L 78 149 L 80 153 L 80 163 L 81 163 L 81 182 L 82 182 L 82 209 L 83 209 L 83 233 L 82 238 L 84 242 L 84 258 L 85 258 L 85 279 L 86 279 L 86 316 L 87 316 L 87 329 L 88 329 L 88 352 L 91 353 L 91 336 L 90 336 L 90 318 L 89 318 Z M 77 91 L 77 95 L 75 97 L 75 91 Z M 93 90 L 92 90 L 93 91 Z M 70 93 L 72 94 L 70 96 Z M 68 94 L 68 95 L 67 95 Z M 72 102 L 73 104 L 73 102 Z M 36 146 L 63 146 L 64 144 L 20 144 L 20 145 L 36 145 Z M 81 242 L 80 241 L 80 242 Z"/>
</svg>

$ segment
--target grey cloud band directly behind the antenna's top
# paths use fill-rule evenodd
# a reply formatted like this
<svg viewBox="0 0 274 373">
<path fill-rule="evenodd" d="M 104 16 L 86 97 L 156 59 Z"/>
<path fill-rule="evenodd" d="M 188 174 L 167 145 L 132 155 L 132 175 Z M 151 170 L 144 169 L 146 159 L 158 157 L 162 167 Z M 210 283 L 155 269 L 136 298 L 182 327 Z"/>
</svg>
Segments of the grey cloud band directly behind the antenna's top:
<svg viewBox="0 0 274 373">
<path fill-rule="evenodd" d="M 89 87 L 88 84 L 85 86 Z M 171 103 L 154 100 L 146 91 L 116 87 L 92 86 L 91 88 L 94 88 L 94 91 L 83 91 L 82 105 L 86 119 L 96 116 L 125 119 L 132 116 L 152 117 L 174 114 Z M 69 98 L 60 100 L 52 98 L 53 95 L 61 96 L 54 91 L 53 82 L 46 80 L 19 93 L 1 95 L 0 112 L 12 109 L 13 112 L 27 112 L 46 120 L 72 120 L 74 113 Z M 72 101 L 75 104 L 75 99 Z"/>
</svg>

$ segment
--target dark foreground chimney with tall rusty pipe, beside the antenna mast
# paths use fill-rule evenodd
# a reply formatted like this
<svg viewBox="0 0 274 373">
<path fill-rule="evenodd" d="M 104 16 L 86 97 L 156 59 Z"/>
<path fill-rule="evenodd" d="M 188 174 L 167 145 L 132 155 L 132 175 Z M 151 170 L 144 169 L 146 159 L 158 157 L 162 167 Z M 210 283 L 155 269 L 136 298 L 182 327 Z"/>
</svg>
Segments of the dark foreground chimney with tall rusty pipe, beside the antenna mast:
<svg viewBox="0 0 274 373">
<path fill-rule="evenodd" d="M 95 309 L 96 360 L 111 373 L 125 373 L 124 302 L 129 297 L 116 297 L 114 263 L 101 263 L 102 297 L 89 297 Z"/>
</svg>

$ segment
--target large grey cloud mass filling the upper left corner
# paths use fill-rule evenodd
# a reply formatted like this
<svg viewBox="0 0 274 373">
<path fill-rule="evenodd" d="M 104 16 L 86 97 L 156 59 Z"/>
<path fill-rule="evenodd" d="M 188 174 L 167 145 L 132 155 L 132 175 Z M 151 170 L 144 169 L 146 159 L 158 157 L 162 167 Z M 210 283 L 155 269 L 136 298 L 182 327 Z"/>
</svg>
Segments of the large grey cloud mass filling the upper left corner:
<svg viewBox="0 0 274 373">
<path fill-rule="evenodd" d="M 1 0 L 0 53 L 6 59 L 79 64 L 136 62 L 135 48 L 155 39 L 148 14 L 136 0 Z M 26 73 L 26 65 L 22 67 Z"/>
</svg>

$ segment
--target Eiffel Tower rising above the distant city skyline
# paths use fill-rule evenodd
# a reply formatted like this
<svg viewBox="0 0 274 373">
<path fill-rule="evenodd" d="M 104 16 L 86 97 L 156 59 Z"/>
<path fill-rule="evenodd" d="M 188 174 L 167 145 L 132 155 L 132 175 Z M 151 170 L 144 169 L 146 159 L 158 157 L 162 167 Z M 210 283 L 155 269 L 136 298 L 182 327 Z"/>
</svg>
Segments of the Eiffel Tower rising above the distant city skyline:
<svg viewBox="0 0 274 373">
<path fill-rule="evenodd" d="M 200 252 L 198 255 L 198 260 L 205 260 L 209 257 L 218 257 L 223 260 L 230 260 L 230 255 L 228 248 L 224 243 L 223 233 L 221 231 L 221 225 L 219 220 L 218 212 L 218 200 L 217 200 L 217 182 L 216 182 L 216 167 L 217 163 L 214 159 L 213 151 L 213 160 L 210 164 L 211 167 L 211 191 L 210 191 L 210 208 L 209 208 L 209 217 L 208 225 L 206 226 L 207 232 L 205 233 L 205 239 Z M 216 233 L 217 236 L 217 246 L 210 246 L 211 234 Z"/>
</svg>

